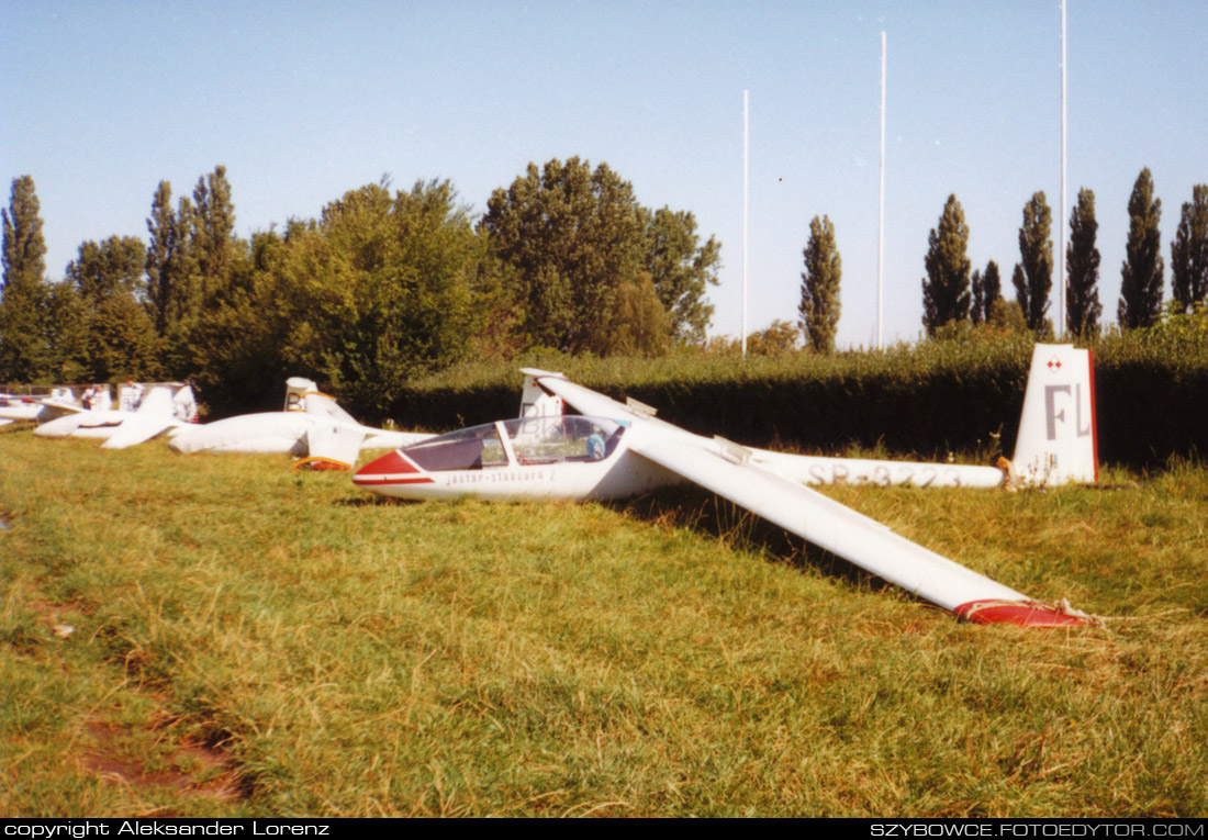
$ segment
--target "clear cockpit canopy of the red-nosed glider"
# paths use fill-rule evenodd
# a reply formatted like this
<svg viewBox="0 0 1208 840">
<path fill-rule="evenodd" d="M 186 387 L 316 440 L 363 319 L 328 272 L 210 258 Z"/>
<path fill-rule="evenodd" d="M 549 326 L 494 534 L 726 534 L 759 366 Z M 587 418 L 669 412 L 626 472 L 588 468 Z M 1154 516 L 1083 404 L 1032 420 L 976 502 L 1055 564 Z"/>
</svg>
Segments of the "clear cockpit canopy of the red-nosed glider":
<svg viewBox="0 0 1208 840">
<path fill-rule="evenodd" d="M 402 452 L 430 473 L 593 463 L 616 451 L 626 428 L 603 417 L 523 417 L 451 431 Z"/>
</svg>

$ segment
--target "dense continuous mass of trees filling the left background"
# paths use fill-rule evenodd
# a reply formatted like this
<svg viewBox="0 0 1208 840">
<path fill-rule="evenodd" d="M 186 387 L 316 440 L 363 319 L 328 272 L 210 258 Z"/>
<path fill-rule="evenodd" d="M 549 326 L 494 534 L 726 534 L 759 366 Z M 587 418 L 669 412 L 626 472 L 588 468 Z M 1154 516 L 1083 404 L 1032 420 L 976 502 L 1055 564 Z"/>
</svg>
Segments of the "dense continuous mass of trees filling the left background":
<svg viewBox="0 0 1208 840">
<path fill-rule="evenodd" d="M 234 219 L 223 167 L 175 202 L 162 181 L 146 242 L 85 242 L 51 282 L 34 181 L 14 179 L 0 382 L 191 378 L 248 395 L 290 371 L 372 409 L 467 357 L 703 342 L 721 260 L 692 213 L 643 207 L 577 157 L 529 164 L 477 219 L 447 180 L 385 178 L 248 239 Z"/>
</svg>

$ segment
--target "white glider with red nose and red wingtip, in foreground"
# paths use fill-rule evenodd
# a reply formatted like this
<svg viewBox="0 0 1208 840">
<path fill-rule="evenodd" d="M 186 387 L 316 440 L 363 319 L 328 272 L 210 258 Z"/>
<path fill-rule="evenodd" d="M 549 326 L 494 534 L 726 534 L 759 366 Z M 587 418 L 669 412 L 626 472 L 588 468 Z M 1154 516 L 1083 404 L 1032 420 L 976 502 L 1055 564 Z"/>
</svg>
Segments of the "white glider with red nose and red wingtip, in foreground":
<svg viewBox="0 0 1208 840">
<path fill-rule="evenodd" d="M 1086 442 L 1078 425 L 1085 406 L 1075 400 L 1085 396 L 1093 406 L 1090 387 L 1085 394 L 1081 390 L 1081 377 L 1090 373 L 1090 358 L 1081 369 L 1057 364 L 1062 359 L 1078 359 L 1068 352 L 1074 351 L 1038 346 L 1033 357 L 1033 370 L 1040 358 L 1039 364 L 1050 380 L 1038 384 L 1040 402 L 1032 399 L 1034 388 L 1029 381 L 1024 419 L 1030 407 L 1045 422 L 1046 451 L 1036 454 L 1033 464 L 1027 460 L 1032 453 L 1017 448 L 1016 460 L 1021 457 L 1023 460 L 1009 470 L 1020 476 L 1017 480 L 1023 476 L 1044 482 L 1064 480 L 1063 476 L 1078 480 L 1075 474 L 1085 469 L 1079 454 L 1061 448 L 1068 442 L 1061 434 L 1067 425 L 1074 429 L 1073 440 Z M 1047 361 L 1043 358 L 1046 353 L 1051 354 Z M 687 481 L 959 618 L 1024 626 L 1078 626 L 1094 621 L 1064 602 L 1034 601 L 803 486 L 798 476 L 811 475 L 811 460 L 800 460 L 803 456 L 771 458 L 776 453 L 685 431 L 657 419 L 646 406 L 632 400 L 622 405 L 558 373 L 524 372 L 544 394 L 581 415 L 521 417 L 432 438 L 366 464 L 355 473 L 353 482 L 374 493 L 405 499 L 472 494 L 487 499 L 577 500 L 625 498 Z M 1093 441 L 1093 411 L 1087 412 L 1087 423 Z M 1093 442 L 1091 450 L 1093 453 Z M 847 469 L 849 475 L 858 471 L 853 467 Z M 870 473 L 872 481 L 882 477 L 876 469 Z M 1004 483 L 1004 471 L 994 471 L 997 483 Z M 892 482 L 894 474 L 883 477 Z"/>
</svg>

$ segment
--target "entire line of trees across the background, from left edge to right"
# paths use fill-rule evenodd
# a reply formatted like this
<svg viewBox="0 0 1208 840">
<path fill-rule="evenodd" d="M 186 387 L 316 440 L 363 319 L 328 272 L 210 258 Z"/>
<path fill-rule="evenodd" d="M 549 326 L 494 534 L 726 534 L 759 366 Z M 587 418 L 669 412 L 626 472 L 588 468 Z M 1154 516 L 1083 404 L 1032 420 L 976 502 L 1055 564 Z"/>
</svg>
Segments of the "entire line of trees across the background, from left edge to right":
<svg viewBox="0 0 1208 840">
<path fill-rule="evenodd" d="M 1117 319 L 1161 315 L 1161 201 L 1149 169 L 1128 202 Z M 223 167 L 173 201 L 161 181 L 147 239 L 85 242 L 51 282 L 34 181 L 12 181 L 2 212 L 0 381 L 191 378 L 246 399 L 273 393 L 281 371 L 318 378 L 366 409 L 390 405 L 407 380 L 466 358 L 534 348 L 658 355 L 704 346 L 721 243 L 689 212 L 650 210 L 608 164 L 577 157 L 530 163 L 472 218 L 449 181 L 394 190 L 389 179 L 347 192 L 316 219 L 234 234 Z M 1094 193 L 1079 191 L 1065 250 L 1065 330 L 1100 330 Z M 991 324 L 1051 335 L 1052 214 L 1044 192 L 1023 208 L 1020 262 L 1006 301 L 992 260 L 972 270 L 969 226 L 949 196 L 924 257 L 928 336 Z M 755 353 L 835 347 L 842 260 L 835 226 L 814 216 L 802 251 L 797 321 L 748 337 Z M 1172 303 L 1208 295 L 1208 186 L 1183 204 L 1171 243 Z M 738 342 L 714 340 L 713 349 Z"/>
</svg>

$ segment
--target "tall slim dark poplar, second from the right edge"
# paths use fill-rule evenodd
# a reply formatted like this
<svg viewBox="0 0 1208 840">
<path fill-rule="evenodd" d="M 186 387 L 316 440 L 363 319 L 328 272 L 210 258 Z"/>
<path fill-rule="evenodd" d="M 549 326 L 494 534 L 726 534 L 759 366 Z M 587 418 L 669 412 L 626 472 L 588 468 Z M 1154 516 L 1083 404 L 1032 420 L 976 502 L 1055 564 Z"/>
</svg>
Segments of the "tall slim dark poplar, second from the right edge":
<svg viewBox="0 0 1208 840">
<path fill-rule="evenodd" d="M 1142 169 L 1128 198 L 1128 244 L 1120 268 L 1120 325 L 1152 326 L 1162 308 L 1162 201 L 1154 197 L 1154 178 Z"/>
</svg>

